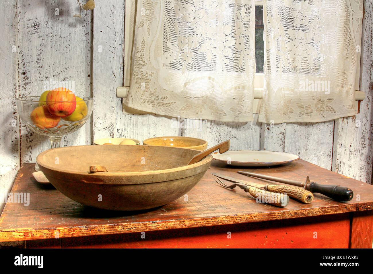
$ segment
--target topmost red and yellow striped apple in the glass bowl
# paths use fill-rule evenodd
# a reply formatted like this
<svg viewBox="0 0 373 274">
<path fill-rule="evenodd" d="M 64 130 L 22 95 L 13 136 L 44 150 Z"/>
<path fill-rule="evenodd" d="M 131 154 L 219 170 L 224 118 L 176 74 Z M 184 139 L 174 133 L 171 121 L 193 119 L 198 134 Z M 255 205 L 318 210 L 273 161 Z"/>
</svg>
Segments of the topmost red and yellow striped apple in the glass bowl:
<svg viewBox="0 0 373 274">
<path fill-rule="evenodd" d="M 76 98 L 67 88 L 56 88 L 48 92 L 47 107 L 49 112 L 57 117 L 68 117 L 76 108 Z"/>
</svg>

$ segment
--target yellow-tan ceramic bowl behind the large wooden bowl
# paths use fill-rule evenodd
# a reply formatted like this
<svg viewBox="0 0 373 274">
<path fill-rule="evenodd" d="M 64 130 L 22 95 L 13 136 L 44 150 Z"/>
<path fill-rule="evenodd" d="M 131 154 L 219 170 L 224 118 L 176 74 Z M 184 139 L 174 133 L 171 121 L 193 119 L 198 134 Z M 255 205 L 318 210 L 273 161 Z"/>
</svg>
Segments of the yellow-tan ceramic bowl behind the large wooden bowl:
<svg viewBox="0 0 373 274">
<path fill-rule="evenodd" d="M 207 141 L 183 136 L 154 137 L 144 140 L 143 143 L 144 145 L 189 148 L 200 151 L 203 151 L 207 148 Z"/>
</svg>

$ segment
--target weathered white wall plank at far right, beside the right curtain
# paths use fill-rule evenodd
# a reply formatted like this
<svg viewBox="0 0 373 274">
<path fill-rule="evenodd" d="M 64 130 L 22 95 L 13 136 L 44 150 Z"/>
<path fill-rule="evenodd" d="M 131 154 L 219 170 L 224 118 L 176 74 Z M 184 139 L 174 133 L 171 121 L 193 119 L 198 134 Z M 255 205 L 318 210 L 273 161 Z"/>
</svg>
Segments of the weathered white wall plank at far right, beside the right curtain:
<svg viewBox="0 0 373 274">
<path fill-rule="evenodd" d="M 335 171 L 372 183 L 373 165 L 373 2 L 364 1 L 360 90 L 366 97 L 360 113 L 338 121 Z"/>
</svg>

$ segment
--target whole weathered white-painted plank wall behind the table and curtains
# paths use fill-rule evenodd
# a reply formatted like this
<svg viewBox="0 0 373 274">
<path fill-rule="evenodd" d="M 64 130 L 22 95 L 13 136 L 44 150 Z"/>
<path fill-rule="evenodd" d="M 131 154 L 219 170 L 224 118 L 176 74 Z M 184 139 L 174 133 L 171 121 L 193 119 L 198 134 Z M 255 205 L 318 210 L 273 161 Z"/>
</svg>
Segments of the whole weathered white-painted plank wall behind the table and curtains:
<svg viewBox="0 0 373 274">
<path fill-rule="evenodd" d="M 40 152 L 49 148 L 47 138 L 33 134 L 23 123 L 18 124 L 15 98 L 39 95 L 43 82 L 50 79 L 74 81 L 76 94 L 93 96 L 95 100 L 91 124 L 63 138 L 65 146 L 92 144 L 93 139 L 107 136 L 142 141 L 154 136 L 183 135 L 206 139 L 210 145 L 231 139 L 231 149 L 293 152 L 326 169 L 372 183 L 372 1 L 365 3 L 361 47 L 360 89 L 366 92 L 366 98 L 356 117 L 325 123 L 262 125 L 257 122 L 256 114 L 253 122 L 201 120 L 198 128 L 175 127 L 171 117 L 122 114 L 121 99 L 116 98 L 115 89 L 123 84 L 123 0 L 105 4 L 97 1 L 94 11 L 83 11 L 82 18 L 73 18 L 79 12 L 75 0 L 3 2 L 4 8 L 0 10 L 4 21 L 4 28 L 0 29 L 0 56 L 4 60 L 0 68 L 2 195 L 9 191 L 20 163 L 34 162 Z M 13 44 L 17 51 L 12 54 Z M 0 201 L 0 210 L 2 207 Z"/>
</svg>

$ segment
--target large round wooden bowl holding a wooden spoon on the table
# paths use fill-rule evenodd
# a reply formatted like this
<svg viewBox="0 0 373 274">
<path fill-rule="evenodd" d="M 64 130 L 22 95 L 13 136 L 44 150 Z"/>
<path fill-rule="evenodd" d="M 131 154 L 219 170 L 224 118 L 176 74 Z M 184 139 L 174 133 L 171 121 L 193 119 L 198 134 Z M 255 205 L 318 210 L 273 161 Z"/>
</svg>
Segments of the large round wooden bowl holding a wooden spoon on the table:
<svg viewBox="0 0 373 274">
<path fill-rule="evenodd" d="M 86 145 L 48 149 L 36 161 L 49 182 L 81 204 L 107 210 L 145 210 L 191 190 L 212 161 L 211 154 L 185 166 L 199 151 L 146 145 Z M 93 165 L 107 173 L 90 173 Z M 53 201 L 51 201 L 53 202 Z"/>
</svg>

